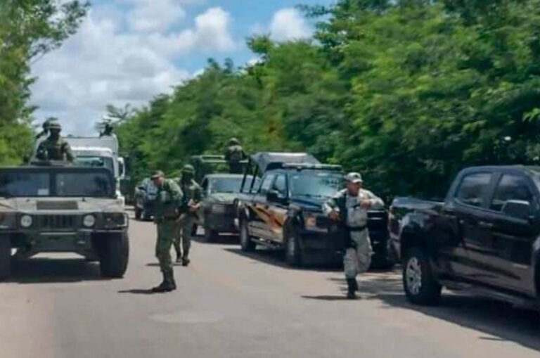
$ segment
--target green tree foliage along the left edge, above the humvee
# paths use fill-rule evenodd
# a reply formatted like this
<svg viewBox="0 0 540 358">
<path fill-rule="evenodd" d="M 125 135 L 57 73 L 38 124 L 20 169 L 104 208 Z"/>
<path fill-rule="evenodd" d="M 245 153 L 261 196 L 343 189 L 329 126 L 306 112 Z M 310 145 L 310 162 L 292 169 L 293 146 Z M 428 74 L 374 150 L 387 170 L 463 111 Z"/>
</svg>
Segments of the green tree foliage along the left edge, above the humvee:
<svg viewBox="0 0 540 358">
<path fill-rule="evenodd" d="M 87 4 L 0 0 L 0 162 L 20 162 L 32 139 L 32 61 L 73 34 Z"/>
</svg>

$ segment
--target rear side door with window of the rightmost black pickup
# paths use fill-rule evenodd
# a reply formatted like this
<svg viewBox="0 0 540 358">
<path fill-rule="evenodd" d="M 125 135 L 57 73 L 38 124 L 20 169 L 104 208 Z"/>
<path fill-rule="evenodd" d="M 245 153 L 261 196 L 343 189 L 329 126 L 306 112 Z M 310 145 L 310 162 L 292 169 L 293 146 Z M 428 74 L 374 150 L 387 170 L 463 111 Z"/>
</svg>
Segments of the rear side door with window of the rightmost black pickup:
<svg viewBox="0 0 540 358">
<path fill-rule="evenodd" d="M 468 173 L 463 175 L 454 194 L 458 238 L 450 262 L 452 274 L 458 278 L 478 282 L 494 279 L 494 272 L 487 269 L 495 254 L 486 241 L 489 224 L 484 219 L 493 182 L 491 172 Z"/>
</svg>

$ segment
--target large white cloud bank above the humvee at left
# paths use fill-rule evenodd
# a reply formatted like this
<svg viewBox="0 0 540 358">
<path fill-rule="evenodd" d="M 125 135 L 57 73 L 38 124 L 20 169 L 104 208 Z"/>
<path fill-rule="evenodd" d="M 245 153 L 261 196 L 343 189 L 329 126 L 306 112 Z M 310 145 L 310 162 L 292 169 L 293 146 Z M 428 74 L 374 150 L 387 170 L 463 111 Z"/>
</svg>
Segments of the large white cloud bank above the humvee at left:
<svg viewBox="0 0 540 358">
<path fill-rule="evenodd" d="M 181 6 L 197 1 L 116 0 L 92 8 L 77 34 L 33 66 L 36 117 L 56 116 L 67 133 L 93 134 L 108 103 L 143 105 L 191 78 L 176 65 L 179 56 L 236 49 L 231 15 L 221 8 L 207 9 L 191 28 L 171 30 L 185 20 Z"/>
</svg>

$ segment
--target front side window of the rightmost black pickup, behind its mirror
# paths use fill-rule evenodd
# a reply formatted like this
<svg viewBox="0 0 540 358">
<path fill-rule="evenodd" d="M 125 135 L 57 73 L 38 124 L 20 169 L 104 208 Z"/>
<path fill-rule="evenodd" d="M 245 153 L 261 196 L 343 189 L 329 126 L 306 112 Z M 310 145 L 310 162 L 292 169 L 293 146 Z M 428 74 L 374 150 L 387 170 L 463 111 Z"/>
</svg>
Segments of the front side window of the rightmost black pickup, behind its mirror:
<svg viewBox="0 0 540 358">
<path fill-rule="evenodd" d="M 529 190 L 525 177 L 515 174 L 504 174 L 497 185 L 489 208 L 491 210 L 501 211 L 508 200 L 523 200 L 532 203 L 532 193 Z"/>
</svg>

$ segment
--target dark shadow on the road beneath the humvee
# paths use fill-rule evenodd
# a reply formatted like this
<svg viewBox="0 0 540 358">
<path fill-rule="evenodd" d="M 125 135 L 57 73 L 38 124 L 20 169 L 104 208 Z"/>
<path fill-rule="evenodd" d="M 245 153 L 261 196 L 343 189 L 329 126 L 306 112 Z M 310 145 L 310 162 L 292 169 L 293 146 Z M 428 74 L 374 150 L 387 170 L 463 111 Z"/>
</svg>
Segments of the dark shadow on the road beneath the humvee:
<svg viewBox="0 0 540 358">
<path fill-rule="evenodd" d="M 9 282 L 59 283 L 110 280 L 101 277 L 99 265 L 84 259 L 34 258 L 13 262 Z"/>
</svg>

